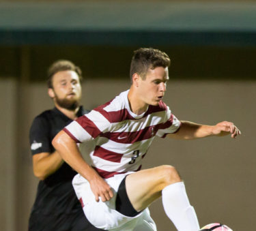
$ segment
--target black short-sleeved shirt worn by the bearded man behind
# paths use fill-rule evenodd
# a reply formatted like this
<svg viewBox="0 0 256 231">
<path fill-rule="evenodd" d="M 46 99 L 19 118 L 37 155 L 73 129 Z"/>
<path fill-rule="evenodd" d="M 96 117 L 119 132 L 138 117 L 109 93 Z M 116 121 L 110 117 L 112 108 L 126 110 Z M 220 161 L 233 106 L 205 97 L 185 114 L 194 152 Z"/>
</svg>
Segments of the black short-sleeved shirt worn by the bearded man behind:
<svg viewBox="0 0 256 231">
<path fill-rule="evenodd" d="M 84 110 L 83 107 L 81 107 L 76 115 L 80 117 L 87 112 L 89 112 L 89 110 Z M 32 155 L 37 153 L 53 153 L 55 151 L 52 145 L 53 138 L 70 122 L 72 122 L 72 119 L 66 117 L 66 115 L 57 108 L 46 110 L 38 115 L 38 117 L 35 117 L 29 133 Z M 76 198 L 72 187 L 72 179 L 76 174 L 77 173 L 64 162 L 56 172 L 49 175 L 44 181 L 40 181 L 31 214 L 33 214 L 33 216 L 38 214 L 41 216 L 50 215 L 49 217 L 60 217 L 61 215 L 67 217 L 67 215 L 75 216 L 78 215 L 78 213 L 83 213 L 81 204 Z M 34 222 L 31 221 L 33 216 L 31 215 L 29 219 L 29 226 Z M 86 220 L 84 215 L 83 219 Z M 89 221 L 87 221 L 87 223 L 88 227 L 91 226 Z M 44 220 L 44 224 L 47 224 L 47 221 Z M 98 229 L 95 228 L 95 230 Z"/>
</svg>

